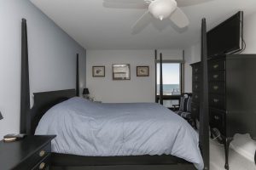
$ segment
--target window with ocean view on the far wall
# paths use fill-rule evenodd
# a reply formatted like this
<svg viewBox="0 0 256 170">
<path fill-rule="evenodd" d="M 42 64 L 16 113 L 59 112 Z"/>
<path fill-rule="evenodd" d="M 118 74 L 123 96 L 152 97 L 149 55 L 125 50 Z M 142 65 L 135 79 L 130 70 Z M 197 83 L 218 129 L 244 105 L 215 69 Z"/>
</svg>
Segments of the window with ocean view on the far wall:
<svg viewBox="0 0 256 170">
<path fill-rule="evenodd" d="M 181 64 L 163 63 L 163 94 L 164 105 L 172 108 L 178 104 L 181 95 Z M 160 64 L 157 64 L 157 95 L 160 95 Z M 174 98 L 176 96 L 176 98 Z M 169 98 L 168 98 L 169 97 Z"/>
</svg>

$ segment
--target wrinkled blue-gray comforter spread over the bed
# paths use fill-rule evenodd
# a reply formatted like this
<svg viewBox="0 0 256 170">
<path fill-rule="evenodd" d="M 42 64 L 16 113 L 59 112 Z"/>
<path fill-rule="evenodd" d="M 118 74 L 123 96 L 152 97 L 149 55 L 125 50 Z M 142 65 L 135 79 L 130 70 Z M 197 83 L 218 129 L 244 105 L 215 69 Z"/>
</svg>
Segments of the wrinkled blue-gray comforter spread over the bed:
<svg viewBox="0 0 256 170">
<path fill-rule="evenodd" d="M 36 134 L 56 134 L 52 150 L 80 156 L 172 155 L 203 168 L 198 134 L 158 104 L 100 104 L 73 98 L 52 107 Z"/>
</svg>

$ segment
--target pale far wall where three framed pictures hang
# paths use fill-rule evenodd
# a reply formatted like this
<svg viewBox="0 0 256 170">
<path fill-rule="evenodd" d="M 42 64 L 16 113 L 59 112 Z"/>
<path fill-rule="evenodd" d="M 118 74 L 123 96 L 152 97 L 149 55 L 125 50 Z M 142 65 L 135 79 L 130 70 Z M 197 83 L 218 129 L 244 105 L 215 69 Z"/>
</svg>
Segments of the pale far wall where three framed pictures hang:
<svg viewBox="0 0 256 170">
<path fill-rule="evenodd" d="M 163 59 L 182 59 L 180 49 L 160 49 Z M 88 50 L 86 78 L 90 96 L 109 103 L 154 102 L 154 50 Z M 131 80 L 113 81 L 112 65 L 130 64 Z M 92 77 L 92 66 L 105 65 L 106 77 Z M 148 65 L 149 77 L 137 77 L 137 66 Z"/>
</svg>

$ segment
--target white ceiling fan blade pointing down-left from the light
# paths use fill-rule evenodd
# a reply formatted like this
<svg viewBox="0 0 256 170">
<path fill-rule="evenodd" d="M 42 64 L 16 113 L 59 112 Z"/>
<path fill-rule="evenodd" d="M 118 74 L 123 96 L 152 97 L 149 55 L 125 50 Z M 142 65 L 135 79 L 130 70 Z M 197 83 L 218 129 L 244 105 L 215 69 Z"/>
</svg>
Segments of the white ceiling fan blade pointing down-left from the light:
<svg viewBox="0 0 256 170">
<path fill-rule="evenodd" d="M 147 10 L 135 23 L 132 28 L 132 34 L 137 34 L 140 31 L 142 31 L 152 20 L 151 14 L 149 14 L 149 11 Z"/>
</svg>

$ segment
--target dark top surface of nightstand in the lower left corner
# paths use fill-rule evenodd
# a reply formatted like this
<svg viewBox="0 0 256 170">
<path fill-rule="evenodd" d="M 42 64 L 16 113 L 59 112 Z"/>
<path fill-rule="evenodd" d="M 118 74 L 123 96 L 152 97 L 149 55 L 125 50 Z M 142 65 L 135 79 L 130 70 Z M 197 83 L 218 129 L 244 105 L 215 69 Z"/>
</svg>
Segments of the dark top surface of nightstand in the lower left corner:
<svg viewBox="0 0 256 170">
<path fill-rule="evenodd" d="M 15 142 L 0 141 L 0 167 L 1 169 L 11 169 L 21 161 L 26 160 L 35 152 L 49 144 L 55 135 L 26 136 L 24 139 Z"/>
</svg>

